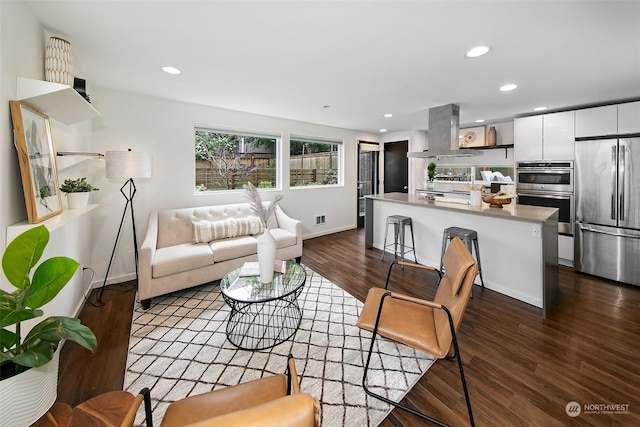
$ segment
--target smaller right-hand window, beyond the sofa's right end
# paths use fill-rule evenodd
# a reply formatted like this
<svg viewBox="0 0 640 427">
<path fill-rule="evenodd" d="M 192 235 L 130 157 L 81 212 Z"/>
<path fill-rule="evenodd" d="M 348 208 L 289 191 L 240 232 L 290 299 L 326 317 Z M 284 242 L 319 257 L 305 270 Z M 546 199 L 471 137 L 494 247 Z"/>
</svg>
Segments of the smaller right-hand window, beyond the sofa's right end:
<svg viewBox="0 0 640 427">
<path fill-rule="evenodd" d="M 291 187 L 333 185 L 340 182 L 342 143 L 291 137 Z"/>
</svg>

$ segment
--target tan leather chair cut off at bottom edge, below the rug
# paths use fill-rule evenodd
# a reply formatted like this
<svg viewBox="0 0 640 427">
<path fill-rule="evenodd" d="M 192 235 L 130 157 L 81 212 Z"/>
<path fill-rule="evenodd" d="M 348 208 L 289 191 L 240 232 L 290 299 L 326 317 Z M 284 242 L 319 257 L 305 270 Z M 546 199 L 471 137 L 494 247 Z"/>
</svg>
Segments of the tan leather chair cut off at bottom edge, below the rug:
<svg viewBox="0 0 640 427">
<path fill-rule="evenodd" d="M 162 427 L 320 425 L 320 402 L 300 393 L 293 357 L 287 374 L 187 397 L 173 402 L 162 419 Z"/>
</svg>

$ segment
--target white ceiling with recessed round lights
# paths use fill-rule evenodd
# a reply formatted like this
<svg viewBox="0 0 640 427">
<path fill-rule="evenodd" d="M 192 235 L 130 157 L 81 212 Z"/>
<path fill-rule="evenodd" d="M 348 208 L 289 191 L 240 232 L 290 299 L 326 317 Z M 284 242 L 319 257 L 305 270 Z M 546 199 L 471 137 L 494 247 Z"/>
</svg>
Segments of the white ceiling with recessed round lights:
<svg viewBox="0 0 640 427">
<path fill-rule="evenodd" d="M 89 94 L 371 132 L 426 129 L 448 103 L 464 125 L 640 97 L 638 1 L 25 2 L 71 42 Z M 491 52 L 463 56 L 479 44 Z"/>
</svg>

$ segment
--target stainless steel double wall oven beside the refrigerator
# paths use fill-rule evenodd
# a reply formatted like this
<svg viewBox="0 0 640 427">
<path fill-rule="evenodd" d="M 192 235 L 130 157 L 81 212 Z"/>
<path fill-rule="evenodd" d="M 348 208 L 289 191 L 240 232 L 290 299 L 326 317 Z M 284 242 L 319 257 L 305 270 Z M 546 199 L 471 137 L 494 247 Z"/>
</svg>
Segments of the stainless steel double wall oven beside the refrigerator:
<svg viewBox="0 0 640 427">
<path fill-rule="evenodd" d="M 573 236 L 572 161 L 518 162 L 518 204 L 558 209 L 558 232 Z"/>
</svg>

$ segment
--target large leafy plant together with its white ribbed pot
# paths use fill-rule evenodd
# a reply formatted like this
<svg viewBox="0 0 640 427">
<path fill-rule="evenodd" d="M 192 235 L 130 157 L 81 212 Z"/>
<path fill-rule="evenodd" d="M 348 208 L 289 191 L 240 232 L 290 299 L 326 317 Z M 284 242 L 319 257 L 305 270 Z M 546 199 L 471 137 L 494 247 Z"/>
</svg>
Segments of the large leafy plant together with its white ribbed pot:
<svg viewBox="0 0 640 427">
<path fill-rule="evenodd" d="M 76 318 L 51 316 L 26 333 L 25 321 L 44 314 L 40 308 L 53 300 L 78 269 L 68 257 L 44 260 L 31 274 L 49 242 L 44 225 L 16 237 L 2 256 L 2 270 L 15 290 L 0 289 L 0 414 L 2 425 L 31 425 L 42 408 L 55 402 L 58 384 L 58 346 L 74 341 L 95 350 L 96 337 Z M 24 405 L 24 399 L 31 399 Z M 42 411 L 42 413 L 40 413 Z"/>
</svg>

